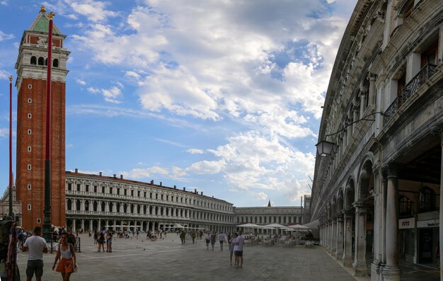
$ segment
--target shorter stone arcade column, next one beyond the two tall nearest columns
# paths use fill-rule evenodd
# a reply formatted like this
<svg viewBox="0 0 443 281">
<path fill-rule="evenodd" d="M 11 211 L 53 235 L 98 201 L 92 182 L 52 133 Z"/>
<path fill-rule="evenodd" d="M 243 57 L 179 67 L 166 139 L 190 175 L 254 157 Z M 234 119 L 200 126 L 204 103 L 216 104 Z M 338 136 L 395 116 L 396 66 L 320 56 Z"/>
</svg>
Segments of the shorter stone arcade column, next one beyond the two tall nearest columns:
<svg viewBox="0 0 443 281">
<path fill-rule="evenodd" d="M 362 203 L 355 204 L 355 258 L 352 263 L 355 276 L 366 276 L 366 218 L 367 207 Z"/>
</svg>

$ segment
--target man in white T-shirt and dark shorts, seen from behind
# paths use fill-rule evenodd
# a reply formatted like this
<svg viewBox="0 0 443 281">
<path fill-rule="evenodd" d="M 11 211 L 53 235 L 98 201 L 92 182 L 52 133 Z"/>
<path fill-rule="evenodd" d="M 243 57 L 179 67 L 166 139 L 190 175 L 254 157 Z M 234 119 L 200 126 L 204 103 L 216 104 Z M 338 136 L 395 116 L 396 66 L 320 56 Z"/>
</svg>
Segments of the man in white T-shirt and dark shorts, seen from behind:
<svg viewBox="0 0 443 281">
<path fill-rule="evenodd" d="M 47 245 L 42 237 L 43 229 L 35 226 L 34 235 L 26 239 L 22 251 L 29 251 L 28 265 L 26 266 L 26 281 L 31 281 L 35 274 L 35 280 L 41 281 L 43 275 L 43 253 L 47 253 Z"/>
</svg>

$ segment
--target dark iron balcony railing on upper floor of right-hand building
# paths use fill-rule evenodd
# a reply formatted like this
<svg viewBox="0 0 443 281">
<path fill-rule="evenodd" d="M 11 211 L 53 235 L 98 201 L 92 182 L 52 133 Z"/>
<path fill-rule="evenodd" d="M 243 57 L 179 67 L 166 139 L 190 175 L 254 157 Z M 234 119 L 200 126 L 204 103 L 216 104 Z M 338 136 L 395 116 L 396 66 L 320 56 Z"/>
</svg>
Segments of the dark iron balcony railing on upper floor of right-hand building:
<svg viewBox="0 0 443 281">
<path fill-rule="evenodd" d="M 393 117 L 394 114 L 398 111 L 398 108 L 401 107 L 413 93 L 417 92 L 422 84 L 425 84 L 427 80 L 429 80 L 432 75 L 435 74 L 435 65 L 434 64 L 426 64 L 425 67 L 420 69 L 417 75 L 414 76 L 412 80 L 403 88 L 401 91 L 401 96 L 398 96 L 389 108 L 385 111 L 383 115 L 383 125 L 386 125 L 389 120 Z"/>
</svg>

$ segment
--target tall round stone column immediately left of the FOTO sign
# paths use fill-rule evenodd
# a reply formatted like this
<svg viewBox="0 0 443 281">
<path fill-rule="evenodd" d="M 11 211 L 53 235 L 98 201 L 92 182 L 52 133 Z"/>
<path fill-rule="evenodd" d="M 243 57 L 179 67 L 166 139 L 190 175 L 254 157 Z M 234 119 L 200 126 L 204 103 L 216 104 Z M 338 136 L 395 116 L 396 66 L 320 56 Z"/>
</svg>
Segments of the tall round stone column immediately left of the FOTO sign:
<svg viewBox="0 0 443 281">
<path fill-rule="evenodd" d="M 398 267 L 398 178 L 396 168 L 389 166 L 388 193 L 386 197 L 386 266 L 383 269 L 384 281 L 400 281 Z"/>
</svg>

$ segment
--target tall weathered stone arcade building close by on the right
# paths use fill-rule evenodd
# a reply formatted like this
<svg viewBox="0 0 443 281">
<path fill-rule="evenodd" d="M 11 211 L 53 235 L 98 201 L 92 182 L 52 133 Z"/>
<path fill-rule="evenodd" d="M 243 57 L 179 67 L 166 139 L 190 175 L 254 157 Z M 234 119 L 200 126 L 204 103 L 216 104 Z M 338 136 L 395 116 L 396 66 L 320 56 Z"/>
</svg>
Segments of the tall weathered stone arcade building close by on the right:
<svg viewBox="0 0 443 281">
<path fill-rule="evenodd" d="M 317 155 L 311 194 L 321 245 L 355 275 L 400 280 L 401 260 L 437 268 L 442 59 L 442 1 L 357 1 L 318 134 L 333 150 Z"/>
</svg>

